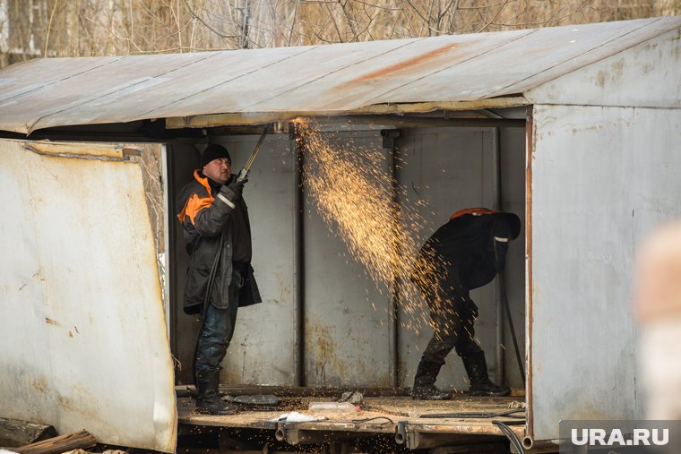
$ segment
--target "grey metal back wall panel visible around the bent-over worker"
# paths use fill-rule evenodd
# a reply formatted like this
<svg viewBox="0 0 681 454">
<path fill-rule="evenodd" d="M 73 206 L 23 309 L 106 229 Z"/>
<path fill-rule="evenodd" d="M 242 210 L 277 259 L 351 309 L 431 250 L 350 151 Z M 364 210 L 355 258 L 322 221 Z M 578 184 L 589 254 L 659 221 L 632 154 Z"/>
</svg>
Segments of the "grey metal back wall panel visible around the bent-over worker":
<svg viewBox="0 0 681 454">
<path fill-rule="evenodd" d="M 409 203 L 426 201 L 419 214 L 426 224 L 419 232 L 421 243 L 449 220 L 456 210 L 467 207 L 492 206 L 493 148 L 492 130 L 472 128 L 431 128 L 406 130 L 399 140 L 404 159 L 400 184 L 407 188 Z M 478 304 L 480 317 L 476 322 L 476 338 L 487 354 L 487 365 L 494 379 L 496 367 L 496 303 L 494 286 L 488 285 L 471 292 Z M 401 301 L 401 306 L 408 304 Z M 421 309 L 427 313 L 427 304 Z M 410 316 L 401 310 L 401 321 L 408 326 Z M 400 382 L 411 386 L 418 361 L 433 331 L 425 326 L 417 333 L 402 327 L 400 341 Z M 468 390 L 466 373 L 461 360 L 452 352 L 447 357 L 437 385 L 444 389 Z"/>
</svg>

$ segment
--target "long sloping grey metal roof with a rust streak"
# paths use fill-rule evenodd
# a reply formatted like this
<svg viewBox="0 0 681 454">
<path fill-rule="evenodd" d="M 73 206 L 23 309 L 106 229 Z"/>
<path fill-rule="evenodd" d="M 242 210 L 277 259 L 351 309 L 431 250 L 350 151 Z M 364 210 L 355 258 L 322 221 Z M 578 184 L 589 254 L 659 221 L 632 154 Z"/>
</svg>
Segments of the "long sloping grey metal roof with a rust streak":
<svg viewBox="0 0 681 454">
<path fill-rule="evenodd" d="M 249 123 L 272 113 L 496 99 L 679 27 L 677 16 L 326 46 L 42 58 L 0 71 L 0 129 L 211 114 Z"/>
</svg>

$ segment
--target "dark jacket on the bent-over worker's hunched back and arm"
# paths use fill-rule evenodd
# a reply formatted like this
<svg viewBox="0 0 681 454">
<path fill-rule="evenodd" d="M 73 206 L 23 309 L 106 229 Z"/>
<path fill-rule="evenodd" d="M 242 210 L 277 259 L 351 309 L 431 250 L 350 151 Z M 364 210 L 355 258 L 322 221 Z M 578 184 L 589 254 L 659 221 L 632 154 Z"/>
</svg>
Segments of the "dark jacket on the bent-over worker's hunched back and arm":
<svg viewBox="0 0 681 454">
<path fill-rule="evenodd" d="M 512 213 L 486 209 L 457 211 L 428 238 L 418 260 L 431 267 L 444 288 L 460 284 L 469 290 L 487 285 L 504 270 L 508 242 L 518 236 L 520 219 Z"/>
</svg>

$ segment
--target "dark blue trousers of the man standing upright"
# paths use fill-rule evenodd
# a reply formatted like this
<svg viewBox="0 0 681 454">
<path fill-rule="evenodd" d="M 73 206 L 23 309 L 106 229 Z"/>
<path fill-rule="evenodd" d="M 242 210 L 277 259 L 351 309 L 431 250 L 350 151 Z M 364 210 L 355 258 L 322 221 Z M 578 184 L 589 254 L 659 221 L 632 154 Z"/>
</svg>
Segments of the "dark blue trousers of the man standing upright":
<svg viewBox="0 0 681 454">
<path fill-rule="evenodd" d="M 196 375 L 207 377 L 220 374 L 222 360 L 227 354 L 227 347 L 234 334 L 234 325 L 237 321 L 239 306 L 239 290 L 244 285 L 244 279 L 235 267 L 232 271 L 232 280 L 228 287 L 229 304 L 225 309 L 207 304 L 203 314 L 203 326 L 199 332 L 198 345 L 196 347 Z"/>
</svg>

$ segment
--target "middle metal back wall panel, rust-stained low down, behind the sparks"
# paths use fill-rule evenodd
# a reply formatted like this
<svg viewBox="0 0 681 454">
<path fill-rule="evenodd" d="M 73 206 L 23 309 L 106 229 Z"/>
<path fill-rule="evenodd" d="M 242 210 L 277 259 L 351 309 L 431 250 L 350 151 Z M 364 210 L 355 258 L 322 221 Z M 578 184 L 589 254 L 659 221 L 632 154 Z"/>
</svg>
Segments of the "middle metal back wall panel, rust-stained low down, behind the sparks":
<svg viewBox="0 0 681 454">
<path fill-rule="evenodd" d="M 324 133 L 381 149 L 381 135 Z M 387 167 L 384 167 L 387 172 Z M 389 299 L 305 199 L 305 373 L 308 386 L 390 386 Z M 373 306 L 373 307 L 372 307 Z"/>
</svg>

